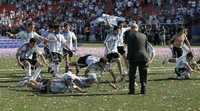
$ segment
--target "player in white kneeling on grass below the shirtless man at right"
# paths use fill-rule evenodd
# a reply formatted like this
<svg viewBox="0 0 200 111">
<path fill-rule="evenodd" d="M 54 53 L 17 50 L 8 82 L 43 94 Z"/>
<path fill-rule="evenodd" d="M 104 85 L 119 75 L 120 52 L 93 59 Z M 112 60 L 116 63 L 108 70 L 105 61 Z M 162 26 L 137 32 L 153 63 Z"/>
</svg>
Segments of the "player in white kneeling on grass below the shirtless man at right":
<svg viewBox="0 0 200 111">
<path fill-rule="evenodd" d="M 176 68 L 175 73 L 177 74 L 176 79 L 184 80 L 189 79 L 192 74 L 192 67 L 190 66 L 191 61 L 193 60 L 194 56 L 192 52 L 183 55 L 176 60 Z"/>
</svg>

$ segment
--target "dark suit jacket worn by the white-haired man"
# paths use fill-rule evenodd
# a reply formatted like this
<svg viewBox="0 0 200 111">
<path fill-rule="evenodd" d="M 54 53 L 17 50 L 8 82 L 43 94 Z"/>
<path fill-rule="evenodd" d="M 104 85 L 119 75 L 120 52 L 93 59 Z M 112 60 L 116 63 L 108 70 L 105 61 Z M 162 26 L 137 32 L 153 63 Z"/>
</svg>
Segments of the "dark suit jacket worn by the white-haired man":
<svg viewBox="0 0 200 111">
<path fill-rule="evenodd" d="M 140 32 L 125 33 L 125 43 L 128 45 L 128 60 L 133 62 L 148 62 L 148 54 L 146 50 L 147 37 Z"/>
</svg>

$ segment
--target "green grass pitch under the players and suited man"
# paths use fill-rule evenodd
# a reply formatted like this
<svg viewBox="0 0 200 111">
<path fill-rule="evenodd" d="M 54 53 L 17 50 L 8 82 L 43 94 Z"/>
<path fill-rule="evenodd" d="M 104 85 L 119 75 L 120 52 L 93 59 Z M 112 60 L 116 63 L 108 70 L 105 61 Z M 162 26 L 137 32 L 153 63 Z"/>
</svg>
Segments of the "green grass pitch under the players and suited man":
<svg viewBox="0 0 200 111">
<path fill-rule="evenodd" d="M 200 75 L 169 79 L 175 77 L 174 65 L 162 66 L 157 59 L 149 68 L 147 94 L 140 95 L 137 87 L 134 96 L 127 94 L 127 82 L 118 83 L 118 90 L 102 83 L 99 89 L 96 85 L 85 89 L 86 94 L 38 94 L 16 86 L 23 73 L 15 64 L 14 58 L 0 60 L 0 111 L 200 111 Z"/>
</svg>

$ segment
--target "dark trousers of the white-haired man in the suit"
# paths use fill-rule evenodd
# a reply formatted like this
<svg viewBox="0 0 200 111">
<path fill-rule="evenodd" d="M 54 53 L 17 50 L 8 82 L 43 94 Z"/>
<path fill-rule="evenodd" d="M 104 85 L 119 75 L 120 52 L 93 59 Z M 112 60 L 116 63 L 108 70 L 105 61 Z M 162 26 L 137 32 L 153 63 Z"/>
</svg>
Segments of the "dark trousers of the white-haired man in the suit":
<svg viewBox="0 0 200 111">
<path fill-rule="evenodd" d="M 146 62 L 129 61 L 129 92 L 135 92 L 135 79 L 137 67 L 139 68 L 139 76 L 141 88 L 145 88 L 147 84 L 147 68 Z"/>
</svg>

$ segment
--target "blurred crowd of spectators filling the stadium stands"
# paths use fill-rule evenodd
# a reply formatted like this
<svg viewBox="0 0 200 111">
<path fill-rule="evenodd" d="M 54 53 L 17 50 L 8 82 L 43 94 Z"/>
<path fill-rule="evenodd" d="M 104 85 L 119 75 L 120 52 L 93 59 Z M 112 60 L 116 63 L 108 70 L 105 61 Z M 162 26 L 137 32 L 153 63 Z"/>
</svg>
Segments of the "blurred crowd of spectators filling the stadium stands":
<svg viewBox="0 0 200 111">
<path fill-rule="evenodd" d="M 176 33 L 176 26 L 190 28 L 192 18 L 200 16 L 199 0 L 1 0 L 1 4 L 15 5 L 16 10 L 0 13 L 0 34 L 17 32 L 26 21 L 34 21 L 38 32 L 47 30 L 49 23 L 68 22 L 80 40 L 104 39 L 106 24 L 91 26 L 90 22 L 103 13 L 134 20 L 154 44 L 160 44 Z M 150 7 L 145 10 L 145 7 Z M 148 13 L 154 9 L 155 13 Z M 163 31 L 164 30 L 164 31 Z M 190 31 L 190 30 L 189 30 Z M 103 37 L 96 37 L 103 36 Z"/>
</svg>

